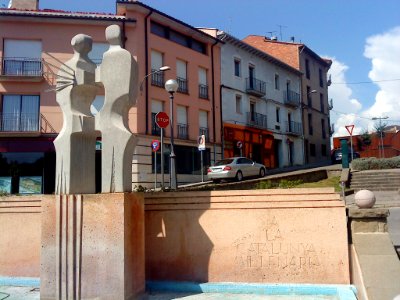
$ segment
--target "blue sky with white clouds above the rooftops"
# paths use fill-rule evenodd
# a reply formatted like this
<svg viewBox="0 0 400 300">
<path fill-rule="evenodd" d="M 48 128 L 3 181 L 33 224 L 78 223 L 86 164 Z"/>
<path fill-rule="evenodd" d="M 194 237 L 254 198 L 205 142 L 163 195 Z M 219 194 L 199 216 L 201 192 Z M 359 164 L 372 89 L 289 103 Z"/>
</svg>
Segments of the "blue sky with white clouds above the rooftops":
<svg viewBox="0 0 400 300">
<path fill-rule="evenodd" d="M 374 130 L 373 117 L 400 125 L 399 0 L 142 0 L 194 27 L 237 38 L 277 36 L 333 60 L 329 74 L 334 136 Z M 6 6 L 8 0 L 0 0 Z M 115 0 L 40 0 L 41 9 L 115 13 Z M 367 83 L 365 83 L 367 82 Z"/>
</svg>

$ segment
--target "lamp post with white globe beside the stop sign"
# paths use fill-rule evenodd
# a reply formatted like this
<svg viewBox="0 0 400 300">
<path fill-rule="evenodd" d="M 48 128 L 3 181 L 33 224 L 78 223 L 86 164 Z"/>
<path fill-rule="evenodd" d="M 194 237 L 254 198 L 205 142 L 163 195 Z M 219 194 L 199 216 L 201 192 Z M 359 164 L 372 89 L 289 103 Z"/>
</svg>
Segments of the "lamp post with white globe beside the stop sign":
<svg viewBox="0 0 400 300">
<path fill-rule="evenodd" d="M 174 93 L 178 90 L 178 82 L 175 79 L 169 79 L 165 83 L 165 90 L 169 93 L 169 113 L 171 119 L 171 154 L 169 155 L 169 186 L 171 190 L 176 190 L 176 168 L 175 168 L 175 152 L 174 152 Z"/>
</svg>

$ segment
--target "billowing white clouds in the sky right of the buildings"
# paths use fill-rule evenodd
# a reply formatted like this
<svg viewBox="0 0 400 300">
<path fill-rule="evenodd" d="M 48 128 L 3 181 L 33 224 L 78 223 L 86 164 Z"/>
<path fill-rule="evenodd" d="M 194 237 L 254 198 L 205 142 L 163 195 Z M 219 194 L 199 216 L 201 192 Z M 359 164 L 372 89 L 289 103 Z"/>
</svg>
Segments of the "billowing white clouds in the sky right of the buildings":
<svg viewBox="0 0 400 300">
<path fill-rule="evenodd" d="M 379 91 L 375 95 L 374 104 L 364 110 L 360 101 L 352 98 L 349 85 L 332 84 L 329 87 L 329 98 L 333 98 L 331 120 L 335 124 L 334 137 L 348 136 L 344 126 L 350 124 L 355 124 L 353 134 L 359 134 L 367 128 L 370 131 L 374 130 L 375 122 L 368 118 L 388 116 L 389 120 L 400 120 L 400 81 L 388 81 L 400 79 L 399 54 L 400 27 L 366 40 L 364 56 L 370 59 L 372 64 L 368 76 L 372 81 L 378 81 L 375 84 Z M 329 71 L 332 74 L 332 82 L 346 82 L 345 73 L 349 67 L 335 58 L 332 58 L 332 61 Z"/>
</svg>

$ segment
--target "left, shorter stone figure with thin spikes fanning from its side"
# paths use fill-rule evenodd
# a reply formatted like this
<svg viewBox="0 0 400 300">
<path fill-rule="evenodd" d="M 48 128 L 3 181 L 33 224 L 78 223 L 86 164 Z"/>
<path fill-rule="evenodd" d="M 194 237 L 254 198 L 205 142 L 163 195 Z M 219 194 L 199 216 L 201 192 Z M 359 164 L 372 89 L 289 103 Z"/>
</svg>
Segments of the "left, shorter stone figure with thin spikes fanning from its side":
<svg viewBox="0 0 400 300">
<path fill-rule="evenodd" d="M 54 141 L 56 194 L 95 193 L 95 119 L 90 105 L 96 97 L 96 65 L 88 58 L 92 38 L 78 34 L 71 40 L 73 57 L 57 74 L 56 100 L 64 124 Z"/>
</svg>

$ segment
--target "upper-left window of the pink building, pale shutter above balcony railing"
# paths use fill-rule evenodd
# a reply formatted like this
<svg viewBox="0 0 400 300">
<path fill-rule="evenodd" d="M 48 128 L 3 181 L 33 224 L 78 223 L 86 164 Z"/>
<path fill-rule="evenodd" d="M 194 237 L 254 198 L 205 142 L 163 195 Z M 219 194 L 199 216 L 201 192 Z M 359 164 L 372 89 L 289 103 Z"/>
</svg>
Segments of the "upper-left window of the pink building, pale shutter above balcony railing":
<svg viewBox="0 0 400 300">
<path fill-rule="evenodd" d="M 5 39 L 3 56 L 3 75 L 42 76 L 42 42 Z"/>
</svg>

